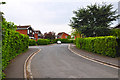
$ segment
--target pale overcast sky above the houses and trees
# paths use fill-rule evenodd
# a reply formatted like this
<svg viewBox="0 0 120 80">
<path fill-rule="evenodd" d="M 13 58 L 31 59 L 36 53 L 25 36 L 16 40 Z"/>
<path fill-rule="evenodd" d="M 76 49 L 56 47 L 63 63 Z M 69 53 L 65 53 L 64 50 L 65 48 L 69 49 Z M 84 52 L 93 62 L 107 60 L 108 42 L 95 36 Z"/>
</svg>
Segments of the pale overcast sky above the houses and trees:
<svg viewBox="0 0 120 80">
<path fill-rule="evenodd" d="M 111 3 L 114 9 L 118 8 L 118 0 L 1 0 L 1 11 L 7 21 L 16 25 L 31 25 L 34 30 L 42 33 L 54 31 L 69 33 L 72 31 L 68 25 L 73 11 L 94 3 Z M 1 6 L 1 5 L 0 5 Z M 114 25 L 117 21 L 114 22 Z"/>
</svg>

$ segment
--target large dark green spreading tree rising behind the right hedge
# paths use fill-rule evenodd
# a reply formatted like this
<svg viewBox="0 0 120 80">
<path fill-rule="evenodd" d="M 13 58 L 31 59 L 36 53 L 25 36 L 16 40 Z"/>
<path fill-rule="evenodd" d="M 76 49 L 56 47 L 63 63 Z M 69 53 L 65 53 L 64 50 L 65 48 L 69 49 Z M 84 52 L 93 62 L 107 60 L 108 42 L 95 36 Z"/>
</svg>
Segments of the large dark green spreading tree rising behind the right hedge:
<svg viewBox="0 0 120 80">
<path fill-rule="evenodd" d="M 73 29 L 89 36 L 107 36 L 110 34 L 109 26 L 119 15 L 117 10 L 112 10 L 113 5 L 94 4 L 86 8 L 80 8 L 73 11 L 75 17 L 70 20 L 70 26 Z"/>
</svg>

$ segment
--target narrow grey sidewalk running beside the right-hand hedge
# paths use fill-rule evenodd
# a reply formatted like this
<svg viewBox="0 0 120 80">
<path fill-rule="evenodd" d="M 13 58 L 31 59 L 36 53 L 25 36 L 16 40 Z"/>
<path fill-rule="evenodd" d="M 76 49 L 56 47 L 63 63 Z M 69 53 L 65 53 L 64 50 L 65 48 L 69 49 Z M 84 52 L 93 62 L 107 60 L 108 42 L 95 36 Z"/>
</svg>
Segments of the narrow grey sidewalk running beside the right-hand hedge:
<svg viewBox="0 0 120 80">
<path fill-rule="evenodd" d="M 74 44 L 70 44 L 70 48 L 74 52 L 76 52 L 76 53 L 78 53 L 82 56 L 87 56 L 87 57 L 90 57 L 90 58 L 94 58 L 96 60 L 100 60 L 100 61 L 103 61 L 103 62 L 106 62 L 106 63 L 110 63 L 110 64 L 114 64 L 114 65 L 118 66 L 118 64 L 120 62 L 120 61 L 118 61 L 118 58 L 111 58 L 111 57 L 107 57 L 107 56 L 103 56 L 103 55 L 99 55 L 99 54 L 95 54 L 95 53 L 92 53 L 92 52 L 88 52 L 88 51 L 85 51 L 85 50 L 78 49 Z"/>
</svg>

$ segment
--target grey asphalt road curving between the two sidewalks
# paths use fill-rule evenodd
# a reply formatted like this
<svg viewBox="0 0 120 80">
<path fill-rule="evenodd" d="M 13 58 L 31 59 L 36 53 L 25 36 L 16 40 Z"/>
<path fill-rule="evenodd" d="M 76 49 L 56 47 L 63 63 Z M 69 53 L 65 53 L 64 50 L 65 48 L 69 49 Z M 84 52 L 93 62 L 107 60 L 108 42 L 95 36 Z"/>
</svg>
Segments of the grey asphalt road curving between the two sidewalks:
<svg viewBox="0 0 120 80">
<path fill-rule="evenodd" d="M 117 69 L 86 60 L 72 53 L 67 44 L 37 48 L 41 51 L 31 61 L 33 78 L 118 78 Z"/>
</svg>

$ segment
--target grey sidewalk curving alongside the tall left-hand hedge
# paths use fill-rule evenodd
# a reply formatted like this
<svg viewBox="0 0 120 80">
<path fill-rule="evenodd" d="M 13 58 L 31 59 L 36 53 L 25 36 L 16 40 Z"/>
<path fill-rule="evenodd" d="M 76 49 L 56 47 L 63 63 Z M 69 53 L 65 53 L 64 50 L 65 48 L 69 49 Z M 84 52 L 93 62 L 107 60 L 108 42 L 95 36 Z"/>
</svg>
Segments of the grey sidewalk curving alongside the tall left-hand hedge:
<svg viewBox="0 0 120 80">
<path fill-rule="evenodd" d="M 20 54 L 15 59 L 11 60 L 10 64 L 4 70 L 6 79 L 24 78 L 24 62 L 27 57 L 33 52 L 38 51 L 37 48 L 29 48 L 27 52 Z"/>
</svg>

